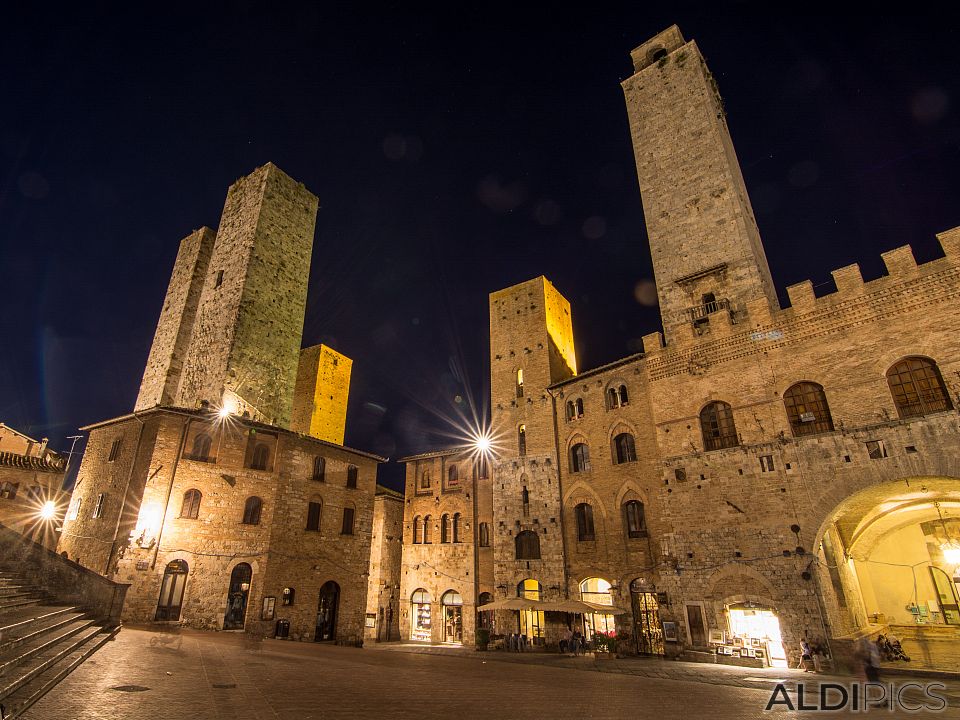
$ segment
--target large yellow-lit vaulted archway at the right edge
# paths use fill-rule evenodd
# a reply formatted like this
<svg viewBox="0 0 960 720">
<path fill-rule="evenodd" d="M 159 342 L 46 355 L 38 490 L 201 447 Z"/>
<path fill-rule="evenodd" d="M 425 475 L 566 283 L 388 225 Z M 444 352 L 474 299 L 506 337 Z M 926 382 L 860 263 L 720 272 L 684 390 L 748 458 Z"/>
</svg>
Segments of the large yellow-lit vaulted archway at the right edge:
<svg viewBox="0 0 960 720">
<path fill-rule="evenodd" d="M 913 477 L 846 498 L 818 533 L 831 635 L 893 634 L 911 667 L 950 664 L 960 641 L 960 479 Z"/>
</svg>

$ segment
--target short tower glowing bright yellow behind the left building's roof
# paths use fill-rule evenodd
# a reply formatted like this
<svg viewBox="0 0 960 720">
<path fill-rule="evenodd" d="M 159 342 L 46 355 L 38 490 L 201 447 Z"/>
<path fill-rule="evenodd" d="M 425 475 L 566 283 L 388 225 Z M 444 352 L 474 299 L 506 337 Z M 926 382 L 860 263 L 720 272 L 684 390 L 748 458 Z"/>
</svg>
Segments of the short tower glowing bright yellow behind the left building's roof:
<svg viewBox="0 0 960 720">
<path fill-rule="evenodd" d="M 326 345 L 300 351 L 290 429 L 343 445 L 353 360 Z"/>
</svg>

